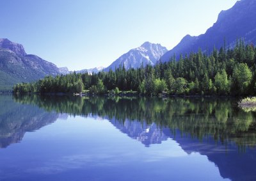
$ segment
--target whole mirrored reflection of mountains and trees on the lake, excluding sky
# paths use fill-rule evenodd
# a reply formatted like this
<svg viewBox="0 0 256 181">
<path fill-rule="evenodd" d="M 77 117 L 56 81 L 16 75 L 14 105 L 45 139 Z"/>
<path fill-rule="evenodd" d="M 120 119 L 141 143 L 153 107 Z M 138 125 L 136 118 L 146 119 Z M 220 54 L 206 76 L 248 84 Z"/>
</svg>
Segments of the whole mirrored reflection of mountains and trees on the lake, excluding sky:
<svg viewBox="0 0 256 181">
<path fill-rule="evenodd" d="M 236 100 L 36 95 L 0 98 L 1 147 L 19 142 L 26 131 L 40 129 L 63 113 L 100 116 L 145 146 L 173 139 L 188 154 L 207 155 L 223 178 L 256 180 L 256 115 L 239 109 Z"/>
</svg>

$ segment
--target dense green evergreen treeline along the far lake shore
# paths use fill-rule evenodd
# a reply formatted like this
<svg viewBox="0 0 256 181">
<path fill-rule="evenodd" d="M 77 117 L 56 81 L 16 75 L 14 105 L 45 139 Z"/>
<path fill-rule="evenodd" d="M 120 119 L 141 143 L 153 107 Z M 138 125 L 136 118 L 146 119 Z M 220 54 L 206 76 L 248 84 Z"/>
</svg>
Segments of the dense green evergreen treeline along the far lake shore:
<svg viewBox="0 0 256 181">
<path fill-rule="evenodd" d="M 175 55 L 156 66 L 141 65 L 125 70 L 120 66 L 98 74 L 58 75 L 45 77 L 36 83 L 22 83 L 13 87 L 15 93 L 91 93 L 137 91 L 157 95 L 255 95 L 256 48 L 242 40 L 234 49 L 221 47 L 211 54 L 202 51 L 189 55 Z"/>
</svg>

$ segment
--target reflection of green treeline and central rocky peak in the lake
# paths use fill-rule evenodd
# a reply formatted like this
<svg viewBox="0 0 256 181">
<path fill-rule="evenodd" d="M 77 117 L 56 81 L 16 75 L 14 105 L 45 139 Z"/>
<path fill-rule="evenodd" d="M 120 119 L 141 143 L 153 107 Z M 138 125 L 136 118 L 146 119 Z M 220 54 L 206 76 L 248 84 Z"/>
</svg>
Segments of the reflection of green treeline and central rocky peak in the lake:
<svg viewBox="0 0 256 181">
<path fill-rule="evenodd" d="M 72 116 L 102 116 L 145 145 L 161 143 L 164 132 L 216 144 L 236 143 L 244 152 L 256 144 L 255 113 L 244 112 L 228 98 L 106 98 L 26 95 L 15 102 Z M 167 128 L 167 129 L 166 129 Z M 155 137 L 153 138 L 152 135 Z"/>
</svg>

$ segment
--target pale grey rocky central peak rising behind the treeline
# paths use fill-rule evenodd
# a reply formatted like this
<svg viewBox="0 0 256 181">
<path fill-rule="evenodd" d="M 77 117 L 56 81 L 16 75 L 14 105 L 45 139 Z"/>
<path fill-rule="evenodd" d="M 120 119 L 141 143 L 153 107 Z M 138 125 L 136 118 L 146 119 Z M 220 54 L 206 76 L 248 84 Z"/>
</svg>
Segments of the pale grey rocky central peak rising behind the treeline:
<svg viewBox="0 0 256 181">
<path fill-rule="evenodd" d="M 131 49 L 131 51 L 120 56 L 104 71 L 115 70 L 115 68 L 123 65 L 126 69 L 130 67 L 138 68 L 142 63 L 143 65 L 155 65 L 157 60 L 167 51 L 166 47 L 162 47 L 160 44 L 145 42 L 140 47 Z"/>
</svg>

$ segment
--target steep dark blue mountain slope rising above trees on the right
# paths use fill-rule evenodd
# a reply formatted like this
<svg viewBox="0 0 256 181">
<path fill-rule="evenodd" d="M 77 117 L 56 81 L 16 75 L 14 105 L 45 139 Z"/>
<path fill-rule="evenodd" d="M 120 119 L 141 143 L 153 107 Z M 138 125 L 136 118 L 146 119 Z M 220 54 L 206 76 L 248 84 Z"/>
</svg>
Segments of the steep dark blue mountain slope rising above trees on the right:
<svg viewBox="0 0 256 181">
<path fill-rule="evenodd" d="M 221 11 L 213 26 L 199 36 L 186 35 L 172 50 L 166 52 L 161 61 L 169 61 L 175 54 L 176 58 L 197 52 L 201 49 L 209 53 L 220 49 L 226 43 L 226 49 L 234 47 L 237 38 L 243 38 L 246 44 L 256 43 L 256 1 L 241 0 L 226 11 Z M 225 42 L 225 43 L 224 43 Z"/>
</svg>

